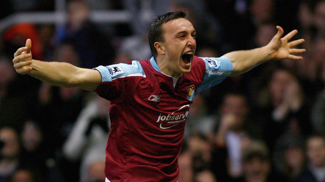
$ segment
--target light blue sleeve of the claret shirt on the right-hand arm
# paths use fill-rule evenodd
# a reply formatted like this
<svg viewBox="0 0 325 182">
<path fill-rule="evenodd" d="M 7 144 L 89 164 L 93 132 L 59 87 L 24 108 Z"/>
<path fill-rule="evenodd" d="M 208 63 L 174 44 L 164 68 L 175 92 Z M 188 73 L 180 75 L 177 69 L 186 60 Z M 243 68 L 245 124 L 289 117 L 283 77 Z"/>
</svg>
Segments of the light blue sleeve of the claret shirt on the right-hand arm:
<svg viewBox="0 0 325 182">
<path fill-rule="evenodd" d="M 196 94 L 221 83 L 233 71 L 232 63 L 226 56 L 220 58 L 200 57 L 205 63 L 205 75 Z"/>
</svg>

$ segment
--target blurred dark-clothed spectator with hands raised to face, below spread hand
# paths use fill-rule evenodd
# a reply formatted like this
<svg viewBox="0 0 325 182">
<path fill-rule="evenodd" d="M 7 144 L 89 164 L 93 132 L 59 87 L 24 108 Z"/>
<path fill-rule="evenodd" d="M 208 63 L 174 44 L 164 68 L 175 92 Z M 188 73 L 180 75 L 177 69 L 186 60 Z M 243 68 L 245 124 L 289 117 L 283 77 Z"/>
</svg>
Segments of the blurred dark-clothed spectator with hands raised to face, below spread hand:
<svg viewBox="0 0 325 182">
<path fill-rule="evenodd" d="M 284 68 L 276 68 L 266 90 L 258 98 L 264 136 L 271 151 L 276 142 L 306 136 L 311 131 L 309 109 L 295 75 Z"/>
</svg>

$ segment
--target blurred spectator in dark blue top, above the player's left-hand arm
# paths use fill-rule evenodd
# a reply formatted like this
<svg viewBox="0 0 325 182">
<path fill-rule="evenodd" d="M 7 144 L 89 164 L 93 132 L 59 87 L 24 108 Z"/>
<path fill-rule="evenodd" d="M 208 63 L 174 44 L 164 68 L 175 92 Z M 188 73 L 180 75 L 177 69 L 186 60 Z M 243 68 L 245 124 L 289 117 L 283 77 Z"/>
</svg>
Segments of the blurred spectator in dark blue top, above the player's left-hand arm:
<svg viewBox="0 0 325 182">
<path fill-rule="evenodd" d="M 83 0 L 68 1 L 67 15 L 67 24 L 56 30 L 57 43 L 67 39 L 72 40 L 82 68 L 110 65 L 115 56 L 115 49 L 110 39 L 90 22 L 86 2 Z"/>
</svg>

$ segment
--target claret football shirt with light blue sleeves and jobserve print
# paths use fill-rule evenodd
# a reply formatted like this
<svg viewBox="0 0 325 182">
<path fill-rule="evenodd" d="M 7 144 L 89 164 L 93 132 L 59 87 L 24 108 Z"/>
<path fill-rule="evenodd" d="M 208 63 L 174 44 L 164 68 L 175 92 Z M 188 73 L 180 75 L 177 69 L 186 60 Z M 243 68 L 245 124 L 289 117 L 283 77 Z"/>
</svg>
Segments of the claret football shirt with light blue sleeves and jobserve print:
<svg viewBox="0 0 325 182">
<path fill-rule="evenodd" d="M 111 101 L 105 175 L 111 182 L 176 182 L 177 157 L 193 97 L 222 82 L 231 61 L 194 56 L 174 78 L 150 60 L 98 66 L 97 94 Z"/>
</svg>

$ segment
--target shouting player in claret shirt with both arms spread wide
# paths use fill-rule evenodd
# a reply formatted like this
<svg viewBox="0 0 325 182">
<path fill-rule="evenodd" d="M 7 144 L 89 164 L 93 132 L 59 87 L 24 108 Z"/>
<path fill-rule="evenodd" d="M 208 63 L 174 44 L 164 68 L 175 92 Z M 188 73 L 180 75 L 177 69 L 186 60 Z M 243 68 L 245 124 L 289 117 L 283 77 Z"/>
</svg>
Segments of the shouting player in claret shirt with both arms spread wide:
<svg viewBox="0 0 325 182">
<path fill-rule="evenodd" d="M 288 43 L 293 30 L 283 29 L 262 48 L 227 53 L 220 58 L 194 56 L 196 31 L 182 11 L 158 16 L 149 29 L 150 60 L 128 64 L 78 68 L 68 63 L 32 60 L 31 40 L 14 54 L 19 74 L 30 74 L 53 85 L 95 90 L 111 101 L 111 131 L 106 148 L 106 181 L 175 182 L 177 156 L 185 120 L 195 94 L 248 71 L 270 59 L 302 57 Z M 109 51 L 109 50 L 108 50 Z M 191 70 L 192 69 L 192 70 Z"/>
</svg>

